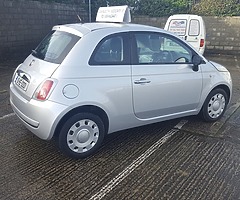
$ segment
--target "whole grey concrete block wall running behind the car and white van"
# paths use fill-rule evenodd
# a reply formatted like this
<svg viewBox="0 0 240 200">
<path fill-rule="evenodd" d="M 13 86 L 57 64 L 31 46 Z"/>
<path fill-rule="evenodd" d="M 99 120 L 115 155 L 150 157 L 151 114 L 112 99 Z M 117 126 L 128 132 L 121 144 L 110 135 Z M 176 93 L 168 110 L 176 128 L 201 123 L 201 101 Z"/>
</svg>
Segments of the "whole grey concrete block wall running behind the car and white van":
<svg viewBox="0 0 240 200">
<path fill-rule="evenodd" d="M 71 0 L 69 0 L 71 1 Z M 0 61 L 24 59 L 56 24 L 88 21 L 83 0 L 74 4 L 0 0 Z M 164 27 L 167 18 L 132 16 L 133 22 Z M 208 53 L 240 54 L 240 17 L 204 17 Z"/>
</svg>

